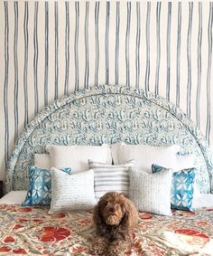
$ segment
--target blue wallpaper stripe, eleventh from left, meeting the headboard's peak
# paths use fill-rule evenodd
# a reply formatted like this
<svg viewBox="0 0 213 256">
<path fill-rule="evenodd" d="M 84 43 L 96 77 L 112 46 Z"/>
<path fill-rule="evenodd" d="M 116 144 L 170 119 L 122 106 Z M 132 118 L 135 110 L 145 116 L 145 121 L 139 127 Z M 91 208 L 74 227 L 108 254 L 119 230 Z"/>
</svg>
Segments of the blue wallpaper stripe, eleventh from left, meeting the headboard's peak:
<svg viewBox="0 0 213 256">
<path fill-rule="evenodd" d="M 109 33 L 110 2 L 106 2 L 106 31 L 105 31 L 105 61 L 106 61 L 106 84 L 108 84 L 108 33 Z"/>
</svg>

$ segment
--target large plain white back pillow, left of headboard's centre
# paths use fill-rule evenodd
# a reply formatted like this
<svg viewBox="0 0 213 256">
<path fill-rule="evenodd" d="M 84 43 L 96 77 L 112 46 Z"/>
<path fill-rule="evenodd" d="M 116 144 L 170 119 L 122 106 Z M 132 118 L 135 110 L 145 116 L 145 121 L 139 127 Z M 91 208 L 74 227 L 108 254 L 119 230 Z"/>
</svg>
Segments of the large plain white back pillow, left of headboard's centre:
<svg viewBox="0 0 213 256">
<path fill-rule="evenodd" d="M 47 145 L 46 151 L 51 156 L 51 167 L 71 167 L 72 174 L 88 170 L 88 159 L 112 164 L 109 145 L 102 146 L 56 146 Z"/>
</svg>

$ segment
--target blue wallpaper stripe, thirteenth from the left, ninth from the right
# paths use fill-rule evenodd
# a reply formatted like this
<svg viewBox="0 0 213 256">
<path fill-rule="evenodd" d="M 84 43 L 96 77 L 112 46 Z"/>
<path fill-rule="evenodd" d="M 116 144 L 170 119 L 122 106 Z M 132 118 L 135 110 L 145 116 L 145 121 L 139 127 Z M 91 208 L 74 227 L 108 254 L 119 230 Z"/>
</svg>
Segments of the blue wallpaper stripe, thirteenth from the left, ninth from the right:
<svg viewBox="0 0 213 256">
<path fill-rule="evenodd" d="M 126 70 L 126 86 L 130 86 L 130 71 L 129 71 L 129 36 L 130 36 L 130 21 L 131 21 L 131 2 L 127 2 L 127 24 L 125 31 L 125 70 Z"/>
</svg>

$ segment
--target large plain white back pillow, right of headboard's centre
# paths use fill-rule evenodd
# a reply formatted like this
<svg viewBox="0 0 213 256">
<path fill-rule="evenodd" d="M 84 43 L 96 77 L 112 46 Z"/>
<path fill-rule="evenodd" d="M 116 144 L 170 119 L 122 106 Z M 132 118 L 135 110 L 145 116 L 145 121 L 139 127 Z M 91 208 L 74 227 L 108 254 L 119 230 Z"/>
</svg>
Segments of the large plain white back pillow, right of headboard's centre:
<svg viewBox="0 0 213 256">
<path fill-rule="evenodd" d="M 126 145 L 118 143 L 112 145 L 112 156 L 115 165 L 124 164 L 131 159 L 135 160 L 135 169 L 151 173 L 153 163 L 166 168 L 177 166 L 177 152 L 179 146 L 150 146 Z"/>
</svg>

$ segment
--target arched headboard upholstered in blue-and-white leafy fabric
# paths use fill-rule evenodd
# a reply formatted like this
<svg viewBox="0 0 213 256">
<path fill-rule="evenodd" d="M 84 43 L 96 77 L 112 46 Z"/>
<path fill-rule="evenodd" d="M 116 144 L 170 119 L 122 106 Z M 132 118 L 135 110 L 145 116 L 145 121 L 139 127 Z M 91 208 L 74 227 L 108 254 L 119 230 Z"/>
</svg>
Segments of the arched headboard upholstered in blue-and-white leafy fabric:
<svg viewBox="0 0 213 256">
<path fill-rule="evenodd" d="M 197 182 L 210 191 L 213 164 L 208 142 L 185 113 L 145 90 L 99 86 L 74 91 L 38 114 L 18 138 L 6 173 L 6 190 L 27 189 L 28 167 L 47 144 L 181 145 L 197 159 Z M 212 185 L 211 185 L 212 188 Z"/>
</svg>

